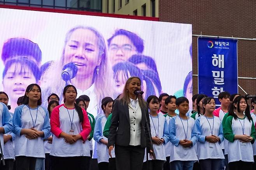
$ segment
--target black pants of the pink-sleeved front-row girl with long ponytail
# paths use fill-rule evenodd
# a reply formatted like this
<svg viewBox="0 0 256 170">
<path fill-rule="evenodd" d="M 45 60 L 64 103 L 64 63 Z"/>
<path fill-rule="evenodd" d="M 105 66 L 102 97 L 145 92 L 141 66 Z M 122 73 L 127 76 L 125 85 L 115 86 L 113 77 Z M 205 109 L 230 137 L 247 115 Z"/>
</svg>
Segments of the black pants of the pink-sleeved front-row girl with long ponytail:
<svg viewBox="0 0 256 170">
<path fill-rule="evenodd" d="M 52 170 L 84 170 L 84 157 L 86 156 L 51 156 Z"/>
</svg>

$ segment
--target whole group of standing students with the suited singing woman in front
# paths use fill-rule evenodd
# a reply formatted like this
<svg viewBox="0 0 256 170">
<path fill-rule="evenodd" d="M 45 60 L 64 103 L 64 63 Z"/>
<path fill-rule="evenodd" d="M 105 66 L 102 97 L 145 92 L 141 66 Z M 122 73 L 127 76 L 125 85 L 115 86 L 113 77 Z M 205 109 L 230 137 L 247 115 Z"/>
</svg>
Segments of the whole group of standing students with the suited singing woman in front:
<svg viewBox="0 0 256 170">
<path fill-rule="evenodd" d="M 61 105 L 59 96 L 51 94 L 44 108 L 40 86 L 30 84 L 14 113 L 8 111 L 8 95 L 0 92 L 5 158 L 0 169 L 89 170 L 92 138 L 99 170 L 256 168 L 256 99 L 251 100 L 250 110 L 244 96 L 224 91 L 216 109 L 215 98 L 195 94 L 190 110 L 186 97 L 163 93 L 144 100 L 136 90 L 141 90 L 141 80 L 130 77 L 115 100 L 102 99 L 103 114 L 96 118 L 86 112 L 89 97 L 77 98 L 73 85 L 63 89 Z"/>
</svg>

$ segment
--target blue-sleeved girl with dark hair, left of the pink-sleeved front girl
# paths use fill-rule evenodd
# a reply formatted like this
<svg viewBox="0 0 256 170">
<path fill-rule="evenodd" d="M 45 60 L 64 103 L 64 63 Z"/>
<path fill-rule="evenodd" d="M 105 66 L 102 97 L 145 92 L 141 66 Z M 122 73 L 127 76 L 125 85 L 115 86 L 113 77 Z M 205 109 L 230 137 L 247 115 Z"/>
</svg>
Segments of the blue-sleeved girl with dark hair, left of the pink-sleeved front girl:
<svg viewBox="0 0 256 170">
<path fill-rule="evenodd" d="M 45 158 L 44 139 L 48 139 L 50 122 L 48 110 L 42 106 L 41 88 L 30 84 L 13 115 L 15 137 L 15 158 L 17 170 L 34 170 L 43 166 Z M 39 164 L 38 164 L 39 163 Z"/>
</svg>

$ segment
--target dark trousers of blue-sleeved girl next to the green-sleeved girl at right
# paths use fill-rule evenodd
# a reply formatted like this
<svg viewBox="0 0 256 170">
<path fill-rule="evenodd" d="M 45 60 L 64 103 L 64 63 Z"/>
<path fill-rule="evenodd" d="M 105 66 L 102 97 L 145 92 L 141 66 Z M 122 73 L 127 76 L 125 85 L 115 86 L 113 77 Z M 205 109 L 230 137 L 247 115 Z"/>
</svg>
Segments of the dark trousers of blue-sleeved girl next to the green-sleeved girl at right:
<svg viewBox="0 0 256 170">
<path fill-rule="evenodd" d="M 219 170 L 221 159 L 204 159 L 199 160 L 202 170 Z"/>
</svg>

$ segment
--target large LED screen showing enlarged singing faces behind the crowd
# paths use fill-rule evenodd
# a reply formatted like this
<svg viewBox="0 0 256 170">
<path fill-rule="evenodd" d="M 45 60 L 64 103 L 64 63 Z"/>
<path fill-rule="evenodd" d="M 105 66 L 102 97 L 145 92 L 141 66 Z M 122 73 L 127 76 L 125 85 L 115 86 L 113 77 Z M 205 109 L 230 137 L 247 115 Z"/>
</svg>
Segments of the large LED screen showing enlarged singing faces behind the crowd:
<svg viewBox="0 0 256 170">
<path fill-rule="evenodd" d="M 191 24 L 0 8 L 0 91 L 13 112 L 31 83 L 42 88 L 43 106 L 73 84 L 96 116 L 102 98 L 116 98 L 137 76 L 145 99 L 168 93 L 191 100 L 191 42 Z"/>
</svg>

